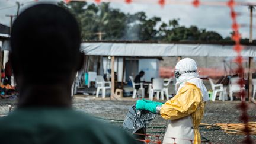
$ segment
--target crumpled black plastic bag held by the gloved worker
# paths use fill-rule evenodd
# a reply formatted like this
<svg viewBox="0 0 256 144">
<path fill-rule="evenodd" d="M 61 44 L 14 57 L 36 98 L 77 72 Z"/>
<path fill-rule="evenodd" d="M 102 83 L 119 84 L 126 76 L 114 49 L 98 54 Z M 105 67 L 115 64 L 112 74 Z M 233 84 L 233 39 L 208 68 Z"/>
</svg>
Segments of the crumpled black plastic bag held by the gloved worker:
<svg viewBox="0 0 256 144">
<path fill-rule="evenodd" d="M 149 121 L 155 119 L 156 114 L 147 110 L 136 110 L 136 105 L 133 105 L 124 119 L 123 129 L 129 133 L 146 134 L 146 128 Z M 145 140 L 145 135 L 133 135 L 135 139 Z"/>
</svg>

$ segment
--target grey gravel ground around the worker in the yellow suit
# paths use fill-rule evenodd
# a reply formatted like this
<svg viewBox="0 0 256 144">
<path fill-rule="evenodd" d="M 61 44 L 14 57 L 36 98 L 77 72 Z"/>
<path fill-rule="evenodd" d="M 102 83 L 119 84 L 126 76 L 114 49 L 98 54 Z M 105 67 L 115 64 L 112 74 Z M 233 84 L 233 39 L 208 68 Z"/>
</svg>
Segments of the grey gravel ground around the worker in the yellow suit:
<svg viewBox="0 0 256 144">
<path fill-rule="evenodd" d="M 135 104 L 135 100 L 131 98 L 126 98 L 123 101 L 109 100 L 108 98 L 96 99 L 94 97 L 74 97 L 73 107 L 77 110 L 85 111 L 86 113 L 92 114 L 95 117 L 108 118 L 124 120 L 129 108 Z M 0 100 L 0 114 L 7 114 L 9 111 L 8 104 L 15 104 L 16 100 Z M 241 123 L 239 116 L 241 111 L 238 110 L 237 105 L 239 101 L 215 101 L 207 102 L 206 110 L 204 113 L 204 118 L 202 123 L 215 124 L 215 123 Z M 249 104 L 248 115 L 250 116 L 249 121 L 256 121 L 256 105 Z M 105 120 L 106 122 L 115 122 L 111 120 Z M 117 121 L 119 122 L 119 121 Z M 151 121 L 149 126 L 165 127 L 168 121 L 162 119 L 160 116 L 156 116 L 154 120 Z M 116 126 L 122 126 L 121 123 L 115 123 Z M 147 132 L 164 132 L 165 129 L 148 129 Z M 200 131 L 201 136 L 206 137 L 209 142 L 204 143 L 241 143 L 244 139 L 244 135 L 233 135 L 226 134 L 223 130 L 212 130 Z M 156 140 L 155 135 L 160 135 L 162 140 L 164 134 L 152 134 L 150 139 Z M 256 135 L 251 135 L 254 142 L 256 142 Z"/>
</svg>

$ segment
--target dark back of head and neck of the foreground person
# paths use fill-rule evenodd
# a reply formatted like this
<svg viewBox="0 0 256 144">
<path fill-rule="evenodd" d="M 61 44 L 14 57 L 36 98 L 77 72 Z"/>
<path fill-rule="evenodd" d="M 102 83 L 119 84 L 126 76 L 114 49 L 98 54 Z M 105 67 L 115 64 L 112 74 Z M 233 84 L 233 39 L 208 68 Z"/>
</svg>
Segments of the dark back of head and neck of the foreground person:
<svg viewBox="0 0 256 144">
<path fill-rule="evenodd" d="M 14 21 L 10 41 L 20 105 L 69 105 L 73 78 L 82 65 L 73 15 L 57 5 L 34 5 Z"/>
</svg>

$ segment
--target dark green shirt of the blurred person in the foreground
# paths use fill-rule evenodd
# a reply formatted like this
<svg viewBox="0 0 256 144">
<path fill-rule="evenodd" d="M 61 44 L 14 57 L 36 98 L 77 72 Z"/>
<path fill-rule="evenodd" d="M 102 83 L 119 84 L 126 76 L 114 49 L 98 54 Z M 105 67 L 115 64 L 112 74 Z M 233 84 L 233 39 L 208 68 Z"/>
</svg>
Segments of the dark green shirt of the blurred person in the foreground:
<svg viewBox="0 0 256 144">
<path fill-rule="evenodd" d="M 20 108 L 0 118 L 0 143 L 106 143 L 136 141 L 118 127 L 68 108 Z"/>
</svg>

